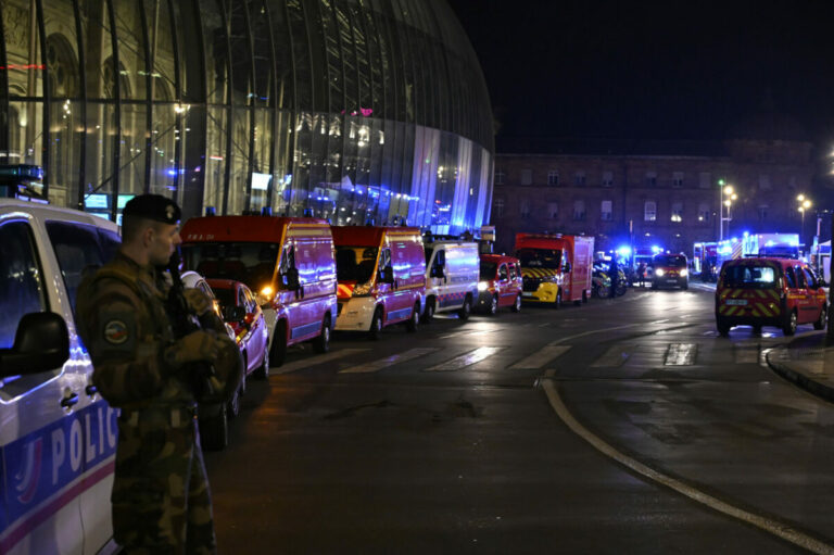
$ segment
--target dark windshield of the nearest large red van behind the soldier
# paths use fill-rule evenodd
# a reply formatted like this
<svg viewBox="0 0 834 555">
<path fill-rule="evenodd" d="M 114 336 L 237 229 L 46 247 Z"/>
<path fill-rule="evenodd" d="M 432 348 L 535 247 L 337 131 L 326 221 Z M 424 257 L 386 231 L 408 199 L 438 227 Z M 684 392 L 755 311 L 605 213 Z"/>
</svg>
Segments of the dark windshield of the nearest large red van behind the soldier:
<svg viewBox="0 0 834 555">
<path fill-rule="evenodd" d="M 186 268 L 206 278 L 242 281 L 260 291 L 275 274 L 277 243 L 195 243 L 182 245 Z"/>
</svg>

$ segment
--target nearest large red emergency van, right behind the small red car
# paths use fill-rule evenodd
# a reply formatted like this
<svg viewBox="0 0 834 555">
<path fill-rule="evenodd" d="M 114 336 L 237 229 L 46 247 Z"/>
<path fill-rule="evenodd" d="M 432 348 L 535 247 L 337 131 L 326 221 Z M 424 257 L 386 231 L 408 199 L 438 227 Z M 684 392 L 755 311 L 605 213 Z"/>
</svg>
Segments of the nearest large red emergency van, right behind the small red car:
<svg viewBox="0 0 834 555">
<path fill-rule="evenodd" d="M 269 365 L 287 348 L 312 341 L 330 349 L 336 325 L 336 260 L 324 219 L 205 216 L 182 226 L 186 267 L 206 278 L 242 281 L 256 294 L 271 337 Z"/>
</svg>

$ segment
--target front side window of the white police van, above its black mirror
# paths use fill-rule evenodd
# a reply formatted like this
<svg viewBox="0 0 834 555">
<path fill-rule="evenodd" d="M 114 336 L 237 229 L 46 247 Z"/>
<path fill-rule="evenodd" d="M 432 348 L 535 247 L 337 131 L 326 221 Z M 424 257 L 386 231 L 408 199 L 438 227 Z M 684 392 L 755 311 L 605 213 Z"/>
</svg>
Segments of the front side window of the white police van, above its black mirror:
<svg viewBox="0 0 834 555">
<path fill-rule="evenodd" d="M 43 270 L 25 222 L 0 226 L 0 349 L 11 349 L 24 314 L 48 310 Z"/>
</svg>

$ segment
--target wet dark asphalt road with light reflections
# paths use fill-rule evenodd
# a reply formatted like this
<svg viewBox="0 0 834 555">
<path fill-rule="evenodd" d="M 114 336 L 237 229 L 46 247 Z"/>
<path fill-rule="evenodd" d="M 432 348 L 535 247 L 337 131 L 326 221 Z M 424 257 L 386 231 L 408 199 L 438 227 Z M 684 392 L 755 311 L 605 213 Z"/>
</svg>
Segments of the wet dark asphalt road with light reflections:
<svg viewBox="0 0 834 555">
<path fill-rule="evenodd" d="M 834 552 L 834 409 L 712 293 L 337 335 L 207 453 L 220 553 Z M 814 332 L 801 326 L 799 335 Z"/>
</svg>

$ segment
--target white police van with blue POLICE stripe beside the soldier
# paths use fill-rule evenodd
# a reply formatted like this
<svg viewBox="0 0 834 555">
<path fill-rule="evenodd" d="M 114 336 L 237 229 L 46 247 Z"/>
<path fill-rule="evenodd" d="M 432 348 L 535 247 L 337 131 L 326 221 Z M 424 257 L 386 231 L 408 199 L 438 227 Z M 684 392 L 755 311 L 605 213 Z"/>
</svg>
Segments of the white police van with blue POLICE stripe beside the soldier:
<svg viewBox="0 0 834 555">
<path fill-rule="evenodd" d="M 115 551 L 116 413 L 96 393 L 73 310 L 115 224 L 0 199 L 0 553 Z"/>
</svg>

